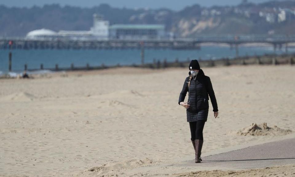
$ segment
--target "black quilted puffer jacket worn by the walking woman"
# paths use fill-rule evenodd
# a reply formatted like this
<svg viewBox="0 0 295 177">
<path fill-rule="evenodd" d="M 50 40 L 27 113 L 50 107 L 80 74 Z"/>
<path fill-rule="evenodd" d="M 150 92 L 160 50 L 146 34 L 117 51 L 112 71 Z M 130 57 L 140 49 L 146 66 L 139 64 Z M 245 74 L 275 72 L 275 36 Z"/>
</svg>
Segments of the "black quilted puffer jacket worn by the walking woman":
<svg viewBox="0 0 295 177">
<path fill-rule="evenodd" d="M 209 96 L 211 99 L 213 111 L 218 111 L 217 102 L 210 77 L 205 76 L 203 70 L 200 69 L 197 76 L 191 78 L 190 86 L 188 86 L 190 75 L 191 72 L 189 72 L 189 77 L 187 77 L 184 81 L 183 89 L 179 95 L 178 104 L 184 101 L 187 92 L 189 92 L 187 102 L 188 104 L 190 104 L 190 108 L 187 109 L 187 121 L 207 121 L 209 110 Z"/>
</svg>

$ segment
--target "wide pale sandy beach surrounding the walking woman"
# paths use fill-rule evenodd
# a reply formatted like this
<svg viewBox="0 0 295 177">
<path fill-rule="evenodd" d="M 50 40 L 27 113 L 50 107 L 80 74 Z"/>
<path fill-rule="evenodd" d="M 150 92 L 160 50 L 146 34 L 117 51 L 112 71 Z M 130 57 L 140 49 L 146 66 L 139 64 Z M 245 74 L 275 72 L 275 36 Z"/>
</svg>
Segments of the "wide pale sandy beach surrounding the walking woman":
<svg viewBox="0 0 295 177">
<path fill-rule="evenodd" d="M 202 156 L 295 137 L 294 66 L 203 71 L 219 116 L 209 102 Z M 187 76 L 188 68 L 115 68 L 1 79 L 0 177 L 295 175 L 295 164 L 243 171 L 183 165 L 194 159 L 178 105 Z"/>
</svg>

